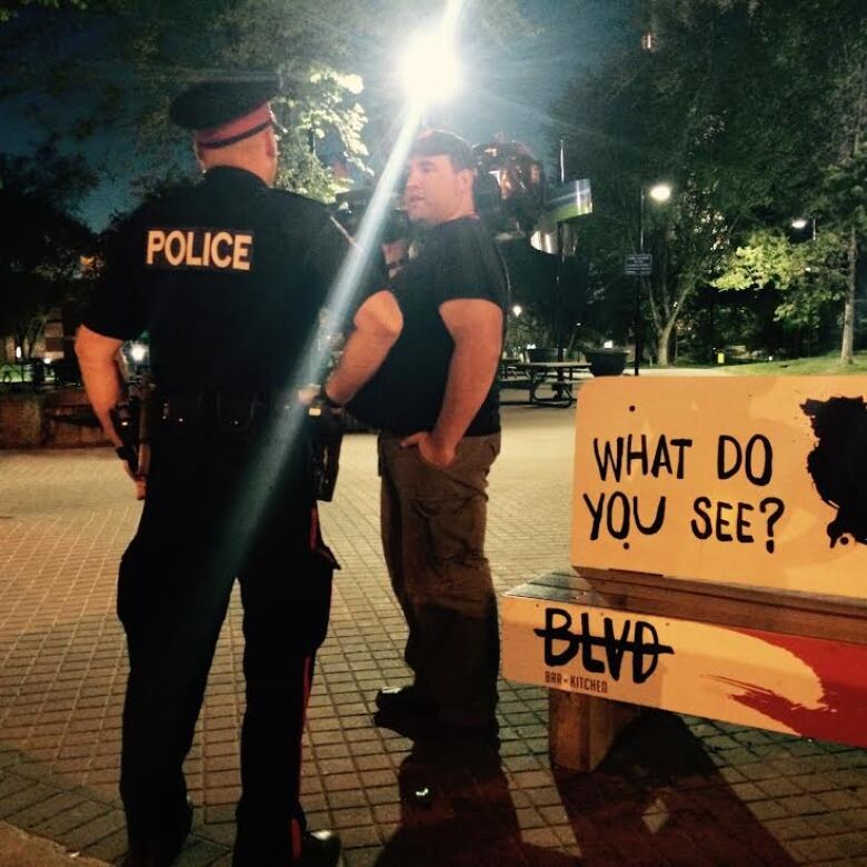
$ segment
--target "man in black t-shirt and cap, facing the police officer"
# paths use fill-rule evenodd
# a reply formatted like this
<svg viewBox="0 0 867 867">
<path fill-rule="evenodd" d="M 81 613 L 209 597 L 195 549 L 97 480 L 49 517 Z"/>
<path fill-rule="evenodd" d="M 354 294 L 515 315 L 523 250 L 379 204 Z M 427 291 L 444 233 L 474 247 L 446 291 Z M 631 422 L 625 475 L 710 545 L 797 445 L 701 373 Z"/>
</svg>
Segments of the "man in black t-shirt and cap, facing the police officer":
<svg viewBox="0 0 867 867">
<path fill-rule="evenodd" d="M 401 727 L 423 717 L 490 735 L 499 637 L 486 488 L 500 448 L 496 373 L 508 286 L 475 212 L 474 165 L 457 136 L 417 138 L 405 203 L 426 229 L 423 246 L 389 287 L 402 331 L 357 395 L 342 365 L 326 390 L 337 402 L 355 395 L 351 412 L 382 431 L 382 540 L 413 682 L 379 691 L 377 721 Z"/>
</svg>

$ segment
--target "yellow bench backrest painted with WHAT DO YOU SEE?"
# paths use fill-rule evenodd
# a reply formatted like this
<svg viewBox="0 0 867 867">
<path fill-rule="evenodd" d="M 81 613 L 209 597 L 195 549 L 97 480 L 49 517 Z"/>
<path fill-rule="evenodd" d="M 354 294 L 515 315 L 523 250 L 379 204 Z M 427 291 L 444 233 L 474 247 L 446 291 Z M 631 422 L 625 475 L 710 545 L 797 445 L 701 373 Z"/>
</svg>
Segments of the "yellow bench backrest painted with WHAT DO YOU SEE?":
<svg viewBox="0 0 867 867">
<path fill-rule="evenodd" d="M 867 377 L 600 379 L 571 562 L 867 598 Z"/>
</svg>

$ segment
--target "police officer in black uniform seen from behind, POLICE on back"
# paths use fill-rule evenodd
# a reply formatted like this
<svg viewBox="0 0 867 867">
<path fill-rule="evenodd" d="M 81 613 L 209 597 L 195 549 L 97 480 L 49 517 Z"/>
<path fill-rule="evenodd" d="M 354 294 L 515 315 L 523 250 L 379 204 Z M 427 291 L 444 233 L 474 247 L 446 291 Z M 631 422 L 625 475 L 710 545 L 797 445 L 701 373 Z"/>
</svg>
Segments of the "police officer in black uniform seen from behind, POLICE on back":
<svg viewBox="0 0 867 867">
<path fill-rule="evenodd" d="M 307 830 L 301 734 L 336 562 L 311 487 L 305 408 L 311 347 L 349 240 L 325 208 L 271 189 L 275 77 L 210 80 L 171 106 L 205 172 L 120 227 L 77 338 L 109 438 L 124 340 L 147 331 L 157 392 L 147 497 L 123 555 L 118 614 L 130 675 L 120 793 L 127 867 L 170 865 L 191 825 L 181 769 L 235 577 L 247 707 L 236 867 L 333 865 L 340 841 Z M 363 381 L 399 331 L 388 292 L 350 342 Z M 313 371 L 316 375 L 318 371 Z M 206 722 L 206 734 L 207 734 Z"/>
</svg>

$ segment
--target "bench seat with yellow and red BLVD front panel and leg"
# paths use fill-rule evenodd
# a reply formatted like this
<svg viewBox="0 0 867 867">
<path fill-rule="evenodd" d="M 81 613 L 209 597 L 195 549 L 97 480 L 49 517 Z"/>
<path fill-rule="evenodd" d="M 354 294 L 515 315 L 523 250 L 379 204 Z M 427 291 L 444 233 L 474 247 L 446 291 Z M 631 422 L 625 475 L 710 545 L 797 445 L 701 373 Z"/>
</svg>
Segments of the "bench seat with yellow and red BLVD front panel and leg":
<svg viewBox="0 0 867 867">
<path fill-rule="evenodd" d="M 502 674 L 550 691 L 554 761 L 589 770 L 638 707 L 867 747 L 867 604 L 564 569 L 501 599 Z"/>
</svg>

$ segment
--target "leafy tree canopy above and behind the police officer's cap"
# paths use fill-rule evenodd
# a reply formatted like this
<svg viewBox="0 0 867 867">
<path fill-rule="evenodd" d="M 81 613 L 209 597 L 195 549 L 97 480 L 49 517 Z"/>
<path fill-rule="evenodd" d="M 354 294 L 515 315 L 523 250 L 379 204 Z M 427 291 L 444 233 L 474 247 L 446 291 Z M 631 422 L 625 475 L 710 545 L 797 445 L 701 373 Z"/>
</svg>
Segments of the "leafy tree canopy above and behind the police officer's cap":
<svg viewBox="0 0 867 867">
<path fill-rule="evenodd" d="M 486 38 L 524 22 L 518 0 L 467 8 L 466 30 Z M 82 139 L 122 130 L 132 144 L 126 163 L 100 170 L 147 189 L 192 168 L 188 138 L 167 120 L 185 83 L 276 70 L 285 98 L 275 108 L 290 129 L 279 183 L 329 199 L 347 171 L 367 176 L 358 73 L 378 77 L 380 94 L 368 104 L 383 113 L 377 130 L 387 130 L 395 88 L 382 69 L 391 69 L 396 33 L 441 13 L 441 0 L 38 0 L 0 28 L 0 97 L 32 97 L 34 118 Z M 63 113 L 51 111 L 54 100 Z M 80 107 L 71 120 L 70 106 Z"/>
</svg>

